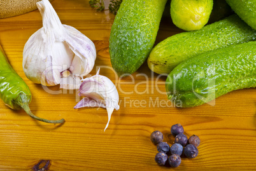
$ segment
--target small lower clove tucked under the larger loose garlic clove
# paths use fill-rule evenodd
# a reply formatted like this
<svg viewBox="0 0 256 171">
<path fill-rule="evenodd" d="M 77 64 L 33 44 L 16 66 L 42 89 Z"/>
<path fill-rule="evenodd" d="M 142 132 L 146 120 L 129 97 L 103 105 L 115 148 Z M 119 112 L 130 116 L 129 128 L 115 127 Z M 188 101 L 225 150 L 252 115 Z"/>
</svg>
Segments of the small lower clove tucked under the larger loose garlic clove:
<svg viewBox="0 0 256 171">
<path fill-rule="evenodd" d="M 78 102 L 78 104 L 76 104 L 74 109 L 78 109 L 81 107 L 103 107 L 103 108 L 106 108 L 106 104 L 104 104 L 103 102 L 98 102 L 97 100 L 94 100 L 90 97 L 85 97 L 82 100 L 80 100 L 80 102 Z"/>
</svg>

